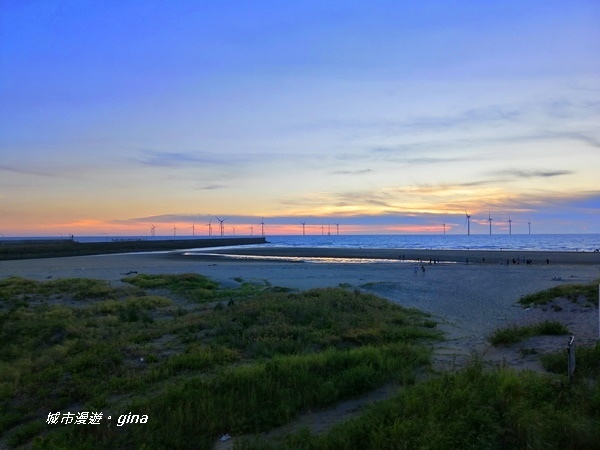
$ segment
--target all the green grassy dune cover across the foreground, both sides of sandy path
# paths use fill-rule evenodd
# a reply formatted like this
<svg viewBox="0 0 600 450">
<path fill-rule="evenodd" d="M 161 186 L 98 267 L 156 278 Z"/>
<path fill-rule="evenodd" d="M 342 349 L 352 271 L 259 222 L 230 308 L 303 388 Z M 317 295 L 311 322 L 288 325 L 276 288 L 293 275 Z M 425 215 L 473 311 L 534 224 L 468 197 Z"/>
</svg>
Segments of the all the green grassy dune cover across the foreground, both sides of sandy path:
<svg viewBox="0 0 600 450">
<path fill-rule="evenodd" d="M 600 441 L 600 346 L 578 376 L 429 369 L 427 315 L 347 289 L 223 288 L 201 275 L 0 280 L 0 447 L 592 449 Z M 557 331 L 550 324 L 519 333 Z M 511 331 L 512 334 L 515 330 Z M 510 334 L 510 333 L 509 333 Z M 550 371 L 565 373 L 564 355 Z M 261 432 L 390 382 L 392 398 L 322 435 Z M 102 413 L 48 424 L 49 413 Z M 120 423 L 139 415 L 147 423 Z M 111 419 L 108 419 L 108 417 Z"/>
</svg>

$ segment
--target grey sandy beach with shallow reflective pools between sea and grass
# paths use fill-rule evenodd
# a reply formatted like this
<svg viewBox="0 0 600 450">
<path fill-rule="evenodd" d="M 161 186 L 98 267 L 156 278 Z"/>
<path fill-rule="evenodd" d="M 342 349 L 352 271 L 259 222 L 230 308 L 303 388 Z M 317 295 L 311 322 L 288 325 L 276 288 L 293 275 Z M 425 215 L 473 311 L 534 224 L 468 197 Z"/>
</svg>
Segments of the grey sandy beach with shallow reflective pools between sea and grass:
<svg viewBox="0 0 600 450">
<path fill-rule="evenodd" d="M 259 259 L 223 256 L 234 252 Z M 357 258 L 368 262 L 358 263 Z M 527 264 L 528 259 L 532 264 Z M 133 273 L 200 273 L 225 285 L 242 278 L 298 290 L 344 286 L 372 292 L 428 312 L 440 321 L 448 340 L 436 350 L 439 367 L 461 366 L 475 352 L 490 361 L 538 368 L 537 358 L 523 357 L 519 348 L 496 349 L 487 344 L 493 330 L 509 324 L 547 318 L 567 324 L 580 345 L 598 339 L 596 308 L 565 304 L 562 311 L 555 312 L 516 304 L 523 295 L 558 284 L 598 280 L 598 253 L 252 247 L 194 255 L 164 252 L 0 261 L 0 279 L 84 277 L 118 284 Z M 566 338 L 544 338 L 523 345 L 551 351 L 563 348 Z"/>
</svg>

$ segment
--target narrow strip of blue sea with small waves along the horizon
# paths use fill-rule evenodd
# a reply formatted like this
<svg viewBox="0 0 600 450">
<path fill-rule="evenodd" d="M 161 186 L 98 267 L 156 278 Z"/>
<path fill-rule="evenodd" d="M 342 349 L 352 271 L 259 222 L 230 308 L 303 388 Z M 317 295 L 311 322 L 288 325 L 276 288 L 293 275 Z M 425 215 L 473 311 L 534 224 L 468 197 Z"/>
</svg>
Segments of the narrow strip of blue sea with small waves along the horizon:
<svg viewBox="0 0 600 450">
<path fill-rule="evenodd" d="M 220 238 L 221 236 L 213 236 Z M 256 237 L 225 236 L 225 237 Z M 77 242 L 110 242 L 126 240 L 210 239 L 209 236 L 74 236 Z M 401 248 L 428 250 L 538 250 L 594 252 L 600 250 L 600 234 L 382 234 L 382 235 L 273 235 L 265 236 L 261 247 L 324 247 L 324 248 Z M 13 238 L 2 240 L 42 240 L 53 238 Z"/>
</svg>

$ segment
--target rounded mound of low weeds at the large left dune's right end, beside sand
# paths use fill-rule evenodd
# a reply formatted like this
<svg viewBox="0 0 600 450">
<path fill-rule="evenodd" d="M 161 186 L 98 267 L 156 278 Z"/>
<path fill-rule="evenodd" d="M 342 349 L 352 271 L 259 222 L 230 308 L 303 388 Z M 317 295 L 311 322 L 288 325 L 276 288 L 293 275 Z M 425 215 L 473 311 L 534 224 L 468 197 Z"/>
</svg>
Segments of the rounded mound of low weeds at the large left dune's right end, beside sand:
<svg viewBox="0 0 600 450">
<path fill-rule="evenodd" d="M 219 304 L 206 320 L 215 342 L 248 357 L 266 358 L 328 347 L 439 338 L 431 330 L 433 322 L 423 326 L 426 316 L 371 294 L 330 288 L 265 292 L 228 308 Z"/>
</svg>

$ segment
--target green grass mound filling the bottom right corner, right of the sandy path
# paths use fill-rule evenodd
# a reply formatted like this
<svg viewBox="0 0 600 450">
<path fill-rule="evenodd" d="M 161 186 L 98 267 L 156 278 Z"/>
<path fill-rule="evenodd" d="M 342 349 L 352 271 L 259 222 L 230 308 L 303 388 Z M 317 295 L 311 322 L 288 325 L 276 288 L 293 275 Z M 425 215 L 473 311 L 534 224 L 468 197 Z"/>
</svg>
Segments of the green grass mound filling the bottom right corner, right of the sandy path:
<svg viewBox="0 0 600 450">
<path fill-rule="evenodd" d="M 304 429 L 279 442 L 248 439 L 237 448 L 591 450 L 598 442 L 597 383 L 569 385 L 533 372 L 484 370 L 476 362 L 404 389 L 322 436 Z"/>
</svg>

